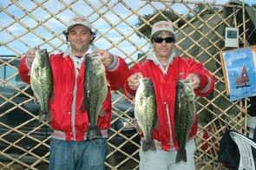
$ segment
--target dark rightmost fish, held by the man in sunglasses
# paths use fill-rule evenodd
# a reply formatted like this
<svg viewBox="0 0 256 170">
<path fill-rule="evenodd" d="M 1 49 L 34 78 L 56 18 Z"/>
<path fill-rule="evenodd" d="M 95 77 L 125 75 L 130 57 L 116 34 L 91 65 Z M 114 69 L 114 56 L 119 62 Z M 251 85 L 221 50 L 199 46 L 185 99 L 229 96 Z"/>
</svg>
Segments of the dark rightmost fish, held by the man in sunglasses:
<svg viewBox="0 0 256 170">
<path fill-rule="evenodd" d="M 175 162 L 181 160 L 187 162 L 186 143 L 188 134 L 194 124 L 195 94 L 190 79 L 179 80 L 176 84 L 176 96 L 174 104 L 174 136 L 179 148 Z"/>
</svg>

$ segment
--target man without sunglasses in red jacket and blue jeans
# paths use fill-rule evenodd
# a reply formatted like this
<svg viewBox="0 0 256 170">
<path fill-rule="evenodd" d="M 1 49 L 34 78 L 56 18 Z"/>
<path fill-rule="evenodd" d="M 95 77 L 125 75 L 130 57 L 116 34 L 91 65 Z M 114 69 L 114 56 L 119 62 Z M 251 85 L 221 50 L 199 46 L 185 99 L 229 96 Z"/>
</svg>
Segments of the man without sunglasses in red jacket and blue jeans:
<svg viewBox="0 0 256 170">
<path fill-rule="evenodd" d="M 52 118 L 50 125 L 53 129 L 49 169 L 102 170 L 111 121 L 110 89 L 122 87 L 128 66 L 121 57 L 95 47 L 95 33 L 86 17 L 73 17 L 63 33 L 69 42 L 69 48 L 64 53 L 49 56 L 54 85 L 54 97 L 49 101 Z M 24 82 L 30 83 L 29 72 L 35 50 L 30 49 L 21 60 L 19 72 Z M 102 138 L 90 141 L 86 138 L 89 127 L 87 111 L 80 109 L 85 69 L 82 63 L 86 60 L 85 55 L 89 53 L 98 53 L 101 56 L 110 85 L 108 96 L 102 104 L 102 114 L 97 121 Z"/>
</svg>

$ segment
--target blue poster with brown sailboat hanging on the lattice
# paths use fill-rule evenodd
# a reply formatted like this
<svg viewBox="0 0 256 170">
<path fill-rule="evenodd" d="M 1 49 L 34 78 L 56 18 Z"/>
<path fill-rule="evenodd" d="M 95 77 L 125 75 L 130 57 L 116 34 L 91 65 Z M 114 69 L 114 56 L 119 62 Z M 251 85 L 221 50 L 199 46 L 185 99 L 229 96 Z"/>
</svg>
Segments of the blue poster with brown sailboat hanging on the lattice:
<svg viewBox="0 0 256 170">
<path fill-rule="evenodd" d="M 256 45 L 220 53 L 230 101 L 256 96 Z"/>
</svg>

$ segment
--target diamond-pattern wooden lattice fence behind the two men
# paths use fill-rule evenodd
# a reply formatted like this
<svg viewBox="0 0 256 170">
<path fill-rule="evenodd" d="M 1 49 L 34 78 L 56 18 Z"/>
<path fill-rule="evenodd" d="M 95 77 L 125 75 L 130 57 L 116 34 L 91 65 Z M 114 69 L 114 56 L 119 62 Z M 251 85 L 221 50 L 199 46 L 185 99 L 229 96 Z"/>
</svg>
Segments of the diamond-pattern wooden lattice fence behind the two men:
<svg viewBox="0 0 256 170">
<path fill-rule="evenodd" d="M 123 57 L 129 67 L 150 52 L 148 32 L 154 21 L 161 18 L 174 22 L 178 54 L 202 62 L 216 80 L 213 94 L 196 101 L 200 121 L 196 169 L 223 168 L 217 160 L 220 137 L 226 127 L 245 133 L 247 101 L 229 101 L 220 51 L 225 49 L 225 27 L 238 27 L 240 44 L 247 45 L 248 19 L 243 4 L 175 2 L 1 1 L 0 168 L 48 168 L 51 130 L 49 124 L 38 121 L 38 105 L 30 86 L 20 80 L 17 67 L 23 53 L 38 45 L 50 52 L 64 50 L 67 43 L 62 31 L 75 14 L 89 16 L 97 35 L 95 45 Z M 106 167 L 139 169 L 140 138 L 132 121 L 133 105 L 121 92 L 113 92 L 113 95 Z"/>
</svg>

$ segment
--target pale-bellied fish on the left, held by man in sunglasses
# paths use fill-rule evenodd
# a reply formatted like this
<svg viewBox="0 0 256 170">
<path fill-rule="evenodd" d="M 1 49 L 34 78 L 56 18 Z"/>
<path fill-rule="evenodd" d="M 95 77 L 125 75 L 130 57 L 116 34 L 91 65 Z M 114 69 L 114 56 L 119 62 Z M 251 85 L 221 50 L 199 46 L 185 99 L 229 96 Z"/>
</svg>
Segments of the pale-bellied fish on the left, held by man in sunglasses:
<svg viewBox="0 0 256 170">
<path fill-rule="evenodd" d="M 143 132 L 142 150 L 155 150 L 152 132 L 157 121 L 156 102 L 153 82 L 149 78 L 140 78 L 135 95 L 135 119 Z"/>
</svg>

